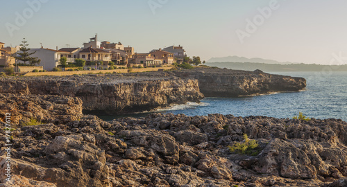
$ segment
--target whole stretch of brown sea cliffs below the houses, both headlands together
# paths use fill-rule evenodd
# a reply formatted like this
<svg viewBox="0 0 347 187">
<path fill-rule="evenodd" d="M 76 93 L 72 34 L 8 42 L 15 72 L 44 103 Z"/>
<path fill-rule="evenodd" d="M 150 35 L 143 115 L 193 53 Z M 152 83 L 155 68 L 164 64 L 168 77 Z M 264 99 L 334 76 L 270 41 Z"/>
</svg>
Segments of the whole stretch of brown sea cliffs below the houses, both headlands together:
<svg viewBox="0 0 347 187">
<path fill-rule="evenodd" d="M 204 95 L 237 97 L 299 91 L 304 78 L 262 71 L 196 68 L 194 70 L 91 74 L 72 76 L 0 77 L 0 93 L 71 96 L 92 114 L 126 114 L 199 102 Z"/>
</svg>

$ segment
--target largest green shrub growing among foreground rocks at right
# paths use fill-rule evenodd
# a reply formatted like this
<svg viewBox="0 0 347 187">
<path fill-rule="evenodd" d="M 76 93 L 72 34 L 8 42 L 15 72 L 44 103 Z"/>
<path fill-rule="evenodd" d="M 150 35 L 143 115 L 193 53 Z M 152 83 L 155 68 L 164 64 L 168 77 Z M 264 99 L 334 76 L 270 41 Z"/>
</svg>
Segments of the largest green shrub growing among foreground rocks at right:
<svg viewBox="0 0 347 187">
<path fill-rule="evenodd" d="M 230 152 L 238 154 L 257 155 L 258 151 L 255 148 L 258 147 L 258 143 L 255 140 L 248 139 L 247 134 L 244 134 L 244 143 L 235 143 L 235 145 L 228 146 Z"/>
</svg>

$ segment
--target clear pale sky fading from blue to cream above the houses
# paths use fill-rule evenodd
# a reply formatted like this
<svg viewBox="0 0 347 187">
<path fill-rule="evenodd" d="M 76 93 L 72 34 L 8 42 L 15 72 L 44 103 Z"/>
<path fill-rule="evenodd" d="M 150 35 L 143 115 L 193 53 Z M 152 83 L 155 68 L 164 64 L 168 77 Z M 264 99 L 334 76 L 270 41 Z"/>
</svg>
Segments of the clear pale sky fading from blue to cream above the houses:
<svg viewBox="0 0 347 187">
<path fill-rule="evenodd" d="M 97 33 L 137 53 L 347 64 L 346 16 L 346 0 L 0 0 L 0 42 L 82 47 Z"/>
</svg>

